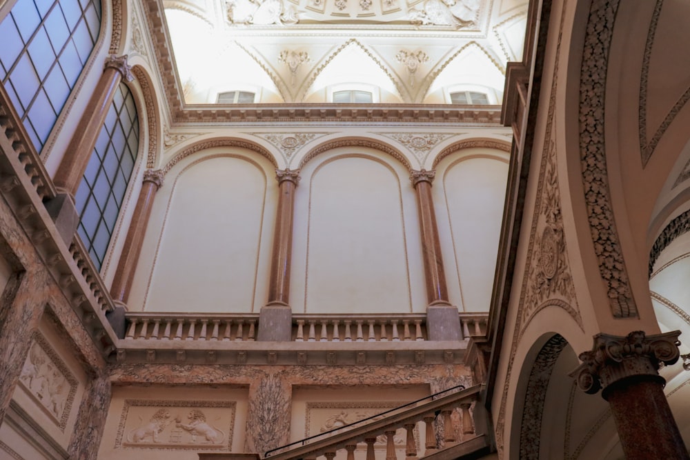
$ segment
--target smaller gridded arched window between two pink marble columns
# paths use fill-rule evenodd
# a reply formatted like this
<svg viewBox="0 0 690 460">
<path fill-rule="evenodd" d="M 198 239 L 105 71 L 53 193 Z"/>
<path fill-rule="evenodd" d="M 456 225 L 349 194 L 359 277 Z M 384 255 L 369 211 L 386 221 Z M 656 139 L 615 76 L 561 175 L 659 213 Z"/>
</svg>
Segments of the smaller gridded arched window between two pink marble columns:
<svg viewBox="0 0 690 460">
<path fill-rule="evenodd" d="M 139 118 L 132 93 L 120 83 L 77 190 L 77 232 L 100 269 L 139 150 Z"/>
</svg>

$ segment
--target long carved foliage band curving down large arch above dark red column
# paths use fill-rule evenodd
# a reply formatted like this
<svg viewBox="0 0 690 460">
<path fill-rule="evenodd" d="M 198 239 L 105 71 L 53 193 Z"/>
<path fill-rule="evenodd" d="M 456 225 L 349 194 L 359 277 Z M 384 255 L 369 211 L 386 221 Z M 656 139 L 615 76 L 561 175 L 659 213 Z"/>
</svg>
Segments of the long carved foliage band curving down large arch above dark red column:
<svg viewBox="0 0 690 460">
<path fill-rule="evenodd" d="M 592 3 L 580 70 L 580 160 L 594 252 L 615 318 L 638 317 L 611 209 L 604 139 L 609 49 L 619 0 Z"/>
</svg>

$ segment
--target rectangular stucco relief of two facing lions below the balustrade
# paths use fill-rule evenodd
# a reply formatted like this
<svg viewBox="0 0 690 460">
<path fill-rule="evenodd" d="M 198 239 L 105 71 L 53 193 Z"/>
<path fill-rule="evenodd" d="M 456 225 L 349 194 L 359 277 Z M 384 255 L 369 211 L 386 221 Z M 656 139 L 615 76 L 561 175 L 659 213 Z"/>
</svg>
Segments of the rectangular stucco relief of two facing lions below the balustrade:
<svg viewBox="0 0 690 460">
<path fill-rule="evenodd" d="M 115 448 L 230 450 L 235 401 L 126 399 Z"/>
</svg>

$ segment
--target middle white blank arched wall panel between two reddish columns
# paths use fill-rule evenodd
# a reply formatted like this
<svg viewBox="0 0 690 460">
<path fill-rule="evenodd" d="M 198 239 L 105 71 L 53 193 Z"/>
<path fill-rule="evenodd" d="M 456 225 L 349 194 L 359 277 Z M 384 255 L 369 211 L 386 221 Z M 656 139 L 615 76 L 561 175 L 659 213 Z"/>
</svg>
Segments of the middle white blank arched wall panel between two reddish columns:
<svg viewBox="0 0 690 460">
<path fill-rule="evenodd" d="M 392 157 L 367 148 L 336 149 L 302 169 L 293 310 L 424 311 L 420 238 L 413 192 L 405 189 L 411 189 L 407 174 Z"/>
</svg>

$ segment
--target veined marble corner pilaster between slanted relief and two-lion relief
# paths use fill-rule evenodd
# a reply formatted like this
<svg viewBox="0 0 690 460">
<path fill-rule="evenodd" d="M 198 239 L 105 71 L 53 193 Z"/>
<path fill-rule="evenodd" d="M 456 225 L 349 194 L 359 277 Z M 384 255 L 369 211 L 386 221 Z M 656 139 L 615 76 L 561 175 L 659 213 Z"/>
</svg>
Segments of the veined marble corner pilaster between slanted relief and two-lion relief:
<svg viewBox="0 0 690 460">
<path fill-rule="evenodd" d="M 98 449 L 106 428 L 112 385 L 108 375 L 97 374 L 84 392 L 68 452 L 72 460 L 90 460 L 98 457 Z"/>
</svg>

